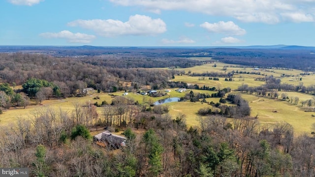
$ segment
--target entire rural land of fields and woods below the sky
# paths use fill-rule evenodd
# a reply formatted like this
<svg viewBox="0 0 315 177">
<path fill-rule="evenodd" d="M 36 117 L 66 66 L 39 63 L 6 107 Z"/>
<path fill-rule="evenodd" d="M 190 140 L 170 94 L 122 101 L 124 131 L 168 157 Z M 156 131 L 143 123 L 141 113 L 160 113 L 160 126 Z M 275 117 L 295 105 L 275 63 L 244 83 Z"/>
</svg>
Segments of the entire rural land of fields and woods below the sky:
<svg viewBox="0 0 315 177">
<path fill-rule="evenodd" d="M 296 51 L 86 48 L 2 49 L 1 167 L 31 176 L 315 173 L 309 49 L 298 50 L 307 66 L 284 67 L 279 56 L 290 65 Z M 83 49 L 100 54 L 71 56 Z"/>
</svg>

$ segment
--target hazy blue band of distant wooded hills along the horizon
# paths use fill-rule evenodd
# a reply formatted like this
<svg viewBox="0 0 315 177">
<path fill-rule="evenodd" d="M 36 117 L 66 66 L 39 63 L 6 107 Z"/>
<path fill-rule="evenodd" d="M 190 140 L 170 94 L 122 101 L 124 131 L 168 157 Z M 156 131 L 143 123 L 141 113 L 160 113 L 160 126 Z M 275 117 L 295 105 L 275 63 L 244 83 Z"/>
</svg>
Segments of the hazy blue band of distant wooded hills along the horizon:
<svg viewBox="0 0 315 177">
<path fill-rule="evenodd" d="M 235 49 L 235 51 L 234 51 Z M 238 52 L 239 50 L 251 50 L 252 52 L 262 52 L 261 50 L 299 50 L 303 53 L 314 53 L 315 47 L 297 45 L 253 45 L 253 46 L 200 46 L 200 47 L 132 47 L 132 46 L 5 46 L 0 45 L 1 52 L 21 52 L 29 54 L 47 54 L 55 57 L 66 56 L 95 56 L 111 54 L 147 54 L 160 56 L 182 56 L 187 54 L 211 55 L 212 51 Z M 206 56 L 204 56 L 206 57 Z"/>
</svg>

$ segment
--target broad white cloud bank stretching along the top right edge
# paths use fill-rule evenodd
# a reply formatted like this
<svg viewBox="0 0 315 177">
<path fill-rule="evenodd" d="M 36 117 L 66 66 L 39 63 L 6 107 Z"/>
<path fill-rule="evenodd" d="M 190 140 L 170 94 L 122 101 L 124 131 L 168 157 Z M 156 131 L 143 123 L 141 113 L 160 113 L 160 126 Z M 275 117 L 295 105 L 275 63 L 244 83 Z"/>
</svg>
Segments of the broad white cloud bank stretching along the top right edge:
<svg viewBox="0 0 315 177">
<path fill-rule="evenodd" d="M 110 0 L 123 6 L 139 6 L 149 11 L 187 10 L 209 15 L 228 16 L 243 22 L 276 24 L 282 20 L 300 22 L 286 13 L 314 17 L 315 0 Z M 307 15 L 309 14 L 309 15 Z M 283 16 L 284 15 L 284 16 Z M 307 18 L 310 20 L 310 18 Z M 303 20 L 307 21 L 308 20 Z M 312 18 L 314 21 L 314 19 Z M 312 21 L 312 22 L 313 22 Z"/>
</svg>

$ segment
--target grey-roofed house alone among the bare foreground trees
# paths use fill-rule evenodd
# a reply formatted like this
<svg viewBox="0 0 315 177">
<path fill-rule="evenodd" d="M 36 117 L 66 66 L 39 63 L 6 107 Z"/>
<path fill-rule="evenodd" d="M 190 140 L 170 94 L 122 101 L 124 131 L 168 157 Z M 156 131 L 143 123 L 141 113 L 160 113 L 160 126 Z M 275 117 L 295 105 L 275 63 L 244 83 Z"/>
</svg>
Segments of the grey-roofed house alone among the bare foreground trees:
<svg viewBox="0 0 315 177">
<path fill-rule="evenodd" d="M 112 148 L 121 148 L 126 146 L 126 138 L 123 136 L 112 134 L 106 130 L 93 137 L 96 144 L 103 143 L 104 146 L 111 146 Z"/>
</svg>

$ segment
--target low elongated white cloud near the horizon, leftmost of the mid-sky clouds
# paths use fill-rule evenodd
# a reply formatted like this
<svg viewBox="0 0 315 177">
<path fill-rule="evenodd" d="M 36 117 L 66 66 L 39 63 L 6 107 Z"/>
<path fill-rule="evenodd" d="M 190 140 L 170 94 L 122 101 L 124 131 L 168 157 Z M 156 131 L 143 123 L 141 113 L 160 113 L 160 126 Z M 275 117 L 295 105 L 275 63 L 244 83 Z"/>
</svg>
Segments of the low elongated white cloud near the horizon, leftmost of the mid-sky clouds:
<svg viewBox="0 0 315 177">
<path fill-rule="evenodd" d="M 95 35 L 84 34 L 84 33 L 72 33 L 68 30 L 63 30 L 60 32 L 44 32 L 39 34 L 45 38 L 60 38 L 66 39 L 70 43 L 90 43 L 93 39 L 95 39 Z"/>
</svg>

